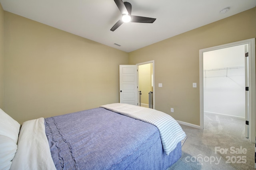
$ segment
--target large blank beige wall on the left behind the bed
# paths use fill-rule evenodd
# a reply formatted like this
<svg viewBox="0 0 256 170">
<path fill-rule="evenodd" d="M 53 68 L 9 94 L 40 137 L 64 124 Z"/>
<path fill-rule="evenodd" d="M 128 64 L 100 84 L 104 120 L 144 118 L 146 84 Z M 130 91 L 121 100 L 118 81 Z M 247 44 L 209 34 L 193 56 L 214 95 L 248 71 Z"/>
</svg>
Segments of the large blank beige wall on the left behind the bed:
<svg viewBox="0 0 256 170">
<path fill-rule="evenodd" d="M 128 53 L 9 12 L 4 29 L 4 111 L 19 123 L 119 102 Z"/>
</svg>

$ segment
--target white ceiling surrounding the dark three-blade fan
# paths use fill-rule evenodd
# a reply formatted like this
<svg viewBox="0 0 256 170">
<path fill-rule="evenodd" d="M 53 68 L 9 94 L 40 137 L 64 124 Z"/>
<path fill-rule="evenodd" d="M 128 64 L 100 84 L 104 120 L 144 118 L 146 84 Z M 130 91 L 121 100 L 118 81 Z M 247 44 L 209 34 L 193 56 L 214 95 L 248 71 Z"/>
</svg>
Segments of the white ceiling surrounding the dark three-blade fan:
<svg viewBox="0 0 256 170">
<path fill-rule="evenodd" d="M 132 4 L 132 15 L 156 18 L 156 21 L 123 23 L 110 31 L 122 17 L 114 0 L 0 0 L 0 3 L 5 11 L 126 52 L 256 6 L 256 0 L 126 1 Z M 221 14 L 227 7 L 230 10 Z"/>
</svg>

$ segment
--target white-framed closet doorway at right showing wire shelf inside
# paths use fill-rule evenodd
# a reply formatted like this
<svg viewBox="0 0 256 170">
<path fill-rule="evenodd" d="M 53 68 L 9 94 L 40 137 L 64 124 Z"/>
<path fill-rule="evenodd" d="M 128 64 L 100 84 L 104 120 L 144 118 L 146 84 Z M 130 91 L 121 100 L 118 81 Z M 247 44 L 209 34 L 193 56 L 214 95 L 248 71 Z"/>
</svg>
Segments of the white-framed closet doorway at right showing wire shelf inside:
<svg viewBox="0 0 256 170">
<path fill-rule="evenodd" d="M 250 87 L 249 91 L 246 86 Z M 255 142 L 254 89 L 255 39 L 200 50 L 201 129 L 204 128 L 204 113 L 239 117 L 245 119 L 245 134 L 248 134 L 245 137 Z"/>
</svg>

